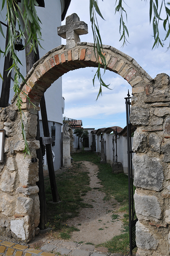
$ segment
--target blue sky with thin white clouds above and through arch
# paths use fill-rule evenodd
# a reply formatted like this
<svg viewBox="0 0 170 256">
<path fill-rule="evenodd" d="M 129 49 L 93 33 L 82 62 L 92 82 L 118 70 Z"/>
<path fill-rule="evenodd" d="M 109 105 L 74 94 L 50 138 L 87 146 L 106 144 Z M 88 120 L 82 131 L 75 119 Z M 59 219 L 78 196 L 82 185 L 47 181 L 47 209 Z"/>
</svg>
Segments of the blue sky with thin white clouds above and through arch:
<svg viewBox="0 0 170 256">
<path fill-rule="evenodd" d="M 166 49 L 169 42 L 164 48 L 159 46 L 152 50 L 154 41 L 152 25 L 149 24 L 149 1 L 125 1 L 127 5 L 124 4 L 124 8 L 128 15 L 127 27 L 130 43 L 124 48 L 121 48 L 122 42 L 119 42 L 120 16 L 118 13 L 114 14 L 114 3 L 113 0 L 98 0 L 105 19 L 102 20 L 98 17 L 103 44 L 111 45 L 133 57 L 152 78 L 160 73 L 169 75 L 170 52 Z M 93 42 L 89 22 L 89 0 L 72 0 L 67 16 L 74 12 L 89 27 L 89 34 L 80 36 L 81 42 Z M 65 20 L 62 22 L 62 25 L 64 24 Z M 162 28 L 160 35 L 164 39 L 165 32 Z M 62 39 L 62 44 L 66 44 L 66 40 Z M 95 87 L 93 87 L 92 79 L 95 70 L 95 68 L 82 68 L 69 71 L 62 76 L 63 97 L 65 98 L 64 116 L 81 119 L 84 128 L 98 129 L 115 125 L 124 128 L 126 125 L 124 97 L 126 97 L 128 89 L 131 93 L 131 86 L 121 76 L 106 70 L 103 80 L 106 84 L 110 84 L 109 87 L 112 90 L 103 88 L 102 96 L 96 101 L 99 83 L 96 79 Z"/>
</svg>

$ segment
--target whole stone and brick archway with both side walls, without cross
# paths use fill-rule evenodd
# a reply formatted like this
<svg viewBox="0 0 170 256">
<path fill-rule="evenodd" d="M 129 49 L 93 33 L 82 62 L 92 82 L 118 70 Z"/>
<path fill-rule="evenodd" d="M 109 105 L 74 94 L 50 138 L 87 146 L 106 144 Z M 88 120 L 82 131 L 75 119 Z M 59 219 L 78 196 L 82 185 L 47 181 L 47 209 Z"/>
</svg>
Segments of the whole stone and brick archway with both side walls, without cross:
<svg viewBox="0 0 170 256">
<path fill-rule="evenodd" d="M 132 86 L 131 123 L 137 127 L 133 160 L 135 208 L 138 216 L 138 255 L 170 255 L 170 78 L 160 74 L 152 79 L 130 56 L 104 45 L 107 69 L 118 73 Z M 33 65 L 22 89 L 37 105 L 42 95 L 60 76 L 70 70 L 97 67 L 94 46 L 77 43 L 51 50 Z M 35 140 L 37 111 L 21 94 L 26 116 L 25 131 L 32 157 L 39 142 Z M 5 129 L 5 157 L 0 164 L 0 226 L 5 232 L 29 241 L 39 224 L 38 163 L 22 153 L 24 141 L 15 99 L 10 107 L 0 110 L 0 128 Z M 164 178 L 165 177 L 165 178 Z"/>
</svg>

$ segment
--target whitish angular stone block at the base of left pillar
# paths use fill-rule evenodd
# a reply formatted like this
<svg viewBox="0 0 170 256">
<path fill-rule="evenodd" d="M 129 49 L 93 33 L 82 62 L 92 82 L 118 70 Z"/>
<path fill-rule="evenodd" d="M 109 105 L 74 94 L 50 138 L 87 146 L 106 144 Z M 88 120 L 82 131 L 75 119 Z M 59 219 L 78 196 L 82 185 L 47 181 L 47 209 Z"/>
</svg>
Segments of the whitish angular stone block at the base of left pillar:
<svg viewBox="0 0 170 256">
<path fill-rule="evenodd" d="M 25 240 L 24 220 L 11 220 L 11 231 L 22 240 Z"/>
</svg>

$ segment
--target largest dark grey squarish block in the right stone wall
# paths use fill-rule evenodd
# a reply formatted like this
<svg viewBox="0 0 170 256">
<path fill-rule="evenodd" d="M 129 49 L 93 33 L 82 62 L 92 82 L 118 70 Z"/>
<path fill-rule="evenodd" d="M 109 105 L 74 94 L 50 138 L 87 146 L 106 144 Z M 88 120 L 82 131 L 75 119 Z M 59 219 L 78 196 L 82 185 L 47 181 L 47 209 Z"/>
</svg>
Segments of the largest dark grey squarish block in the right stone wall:
<svg viewBox="0 0 170 256">
<path fill-rule="evenodd" d="M 132 159 L 134 165 L 134 186 L 160 191 L 164 179 L 163 167 L 159 158 L 137 155 Z"/>
</svg>

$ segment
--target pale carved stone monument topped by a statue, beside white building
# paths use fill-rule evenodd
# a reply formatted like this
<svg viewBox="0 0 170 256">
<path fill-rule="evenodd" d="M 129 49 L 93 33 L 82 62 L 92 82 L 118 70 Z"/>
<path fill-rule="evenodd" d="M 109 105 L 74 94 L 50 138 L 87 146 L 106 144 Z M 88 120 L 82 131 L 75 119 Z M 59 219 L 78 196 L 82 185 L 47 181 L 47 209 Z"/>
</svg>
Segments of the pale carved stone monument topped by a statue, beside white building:
<svg viewBox="0 0 170 256">
<path fill-rule="evenodd" d="M 69 133 L 68 124 L 64 124 L 63 126 L 63 166 L 68 167 L 71 166 L 71 156 L 70 156 L 70 133 Z"/>
</svg>

